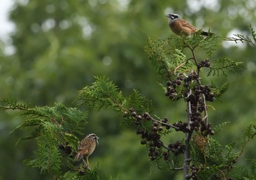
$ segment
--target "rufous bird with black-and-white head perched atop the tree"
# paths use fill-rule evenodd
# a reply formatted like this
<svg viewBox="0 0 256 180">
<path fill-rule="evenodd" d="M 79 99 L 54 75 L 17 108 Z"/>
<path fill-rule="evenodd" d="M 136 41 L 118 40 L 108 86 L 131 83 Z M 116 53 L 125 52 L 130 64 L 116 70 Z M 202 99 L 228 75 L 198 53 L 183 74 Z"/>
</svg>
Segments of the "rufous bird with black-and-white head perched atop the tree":
<svg viewBox="0 0 256 180">
<path fill-rule="evenodd" d="M 198 31 L 197 28 L 187 23 L 187 21 L 179 17 L 179 15 L 169 14 L 166 16 L 169 18 L 170 29 L 173 31 L 173 33 L 177 34 L 178 36 L 182 34 L 189 36 L 191 34 L 194 34 L 196 31 Z M 212 33 L 208 33 L 206 31 L 202 31 L 201 34 L 203 36 L 212 35 Z"/>
</svg>

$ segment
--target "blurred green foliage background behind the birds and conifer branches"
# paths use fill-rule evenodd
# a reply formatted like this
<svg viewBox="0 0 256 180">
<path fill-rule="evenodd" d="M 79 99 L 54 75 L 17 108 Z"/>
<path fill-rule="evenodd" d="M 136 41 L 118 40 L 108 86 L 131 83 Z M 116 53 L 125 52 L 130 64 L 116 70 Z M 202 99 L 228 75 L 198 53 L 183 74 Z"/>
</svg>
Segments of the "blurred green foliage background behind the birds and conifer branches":
<svg viewBox="0 0 256 180">
<path fill-rule="evenodd" d="M 168 13 L 223 37 L 249 35 L 249 23 L 256 26 L 255 9 L 255 0 L 15 1 L 9 16 L 15 29 L 0 45 L 1 98 L 17 98 L 30 106 L 53 106 L 54 102 L 73 106 L 78 90 L 90 85 L 95 75 L 105 75 L 124 95 L 135 88 L 152 99 L 159 117 L 168 117 L 170 122 L 184 120 L 184 103 L 170 103 L 157 85 L 157 74 L 143 51 L 148 36 L 176 36 L 167 25 Z M 208 112 L 213 125 L 230 122 L 214 136 L 227 144 L 239 142 L 246 126 L 256 119 L 256 49 L 223 42 L 215 56 L 222 55 L 244 62 L 244 71 L 209 80 L 217 85 L 232 83 L 222 101 L 211 103 L 216 110 Z M 85 135 L 93 132 L 100 138 L 90 157 L 92 168 L 99 164 L 106 176 L 124 180 L 181 179 L 179 174 L 159 171 L 149 163 L 134 127 L 121 126 L 121 118 L 112 111 L 85 110 L 89 111 Z M 37 147 L 34 141 L 15 146 L 20 136 L 29 133 L 29 129 L 10 133 L 20 122 L 18 111 L 1 111 L 0 180 L 50 179 L 23 165 L 24 159 L 33 158 Z M 173 133 L 167 141 L 181 137 L 182 133 Z M 256 158 L 255 146 L 252 141 L 238 163 L 246 165 L 246 158 Z"/>
</svg>

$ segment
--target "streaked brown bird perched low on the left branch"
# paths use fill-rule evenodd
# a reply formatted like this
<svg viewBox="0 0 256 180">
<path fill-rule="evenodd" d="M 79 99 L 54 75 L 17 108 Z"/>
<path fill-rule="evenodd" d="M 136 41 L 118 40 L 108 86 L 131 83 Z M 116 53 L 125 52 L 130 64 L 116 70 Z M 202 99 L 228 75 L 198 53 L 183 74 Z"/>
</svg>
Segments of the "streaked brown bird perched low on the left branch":
<svg viewBox="0 0 256 180">
<path fill-rule="evenodd" d="M 83 160 L 83 156 L 85 156 L 86 162 L 83 160 L 83 163 L 85 163 L 86 167 L 89 168 L 88 157 L 94 152 L 96 145 L 99 144 L 98 139 L 99 137 L 94 133 L 91 133 L 87 135 L 86 138 L 83 138 L 83 140 L 78 144 L 78 154 L 75 156 L 75 160 Z"/>
</svg>

